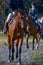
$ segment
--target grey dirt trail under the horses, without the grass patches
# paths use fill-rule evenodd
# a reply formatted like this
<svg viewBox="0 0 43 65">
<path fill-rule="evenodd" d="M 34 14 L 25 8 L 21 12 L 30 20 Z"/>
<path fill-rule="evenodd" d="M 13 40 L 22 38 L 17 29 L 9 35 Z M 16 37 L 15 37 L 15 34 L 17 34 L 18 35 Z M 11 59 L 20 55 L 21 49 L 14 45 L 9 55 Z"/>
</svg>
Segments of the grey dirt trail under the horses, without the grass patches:
<svg viewBox="0 0 43 65">
<path fill-rule="evenodd" d="M 26 48 L 26 43 L 23 43 L 22 46 L 22 65 L 28 65 L 32 62 L 32 59 L 30 57 L 30 54 L 36 54 L 38 53 L 38 50 L 32 50 L 32 44 L 31 41 L 29 43 L 30 48 Z M 43 54 L 43 43 L 40 42 L 39 47 L 39 54 Z M 15 57 L 15 55 L 14 55 Z M 14 59 L 13 62 L 8 63 L 8 46 L 0 45 L 0 65 L 17 65 L 18 59 Z"/>
</svg>

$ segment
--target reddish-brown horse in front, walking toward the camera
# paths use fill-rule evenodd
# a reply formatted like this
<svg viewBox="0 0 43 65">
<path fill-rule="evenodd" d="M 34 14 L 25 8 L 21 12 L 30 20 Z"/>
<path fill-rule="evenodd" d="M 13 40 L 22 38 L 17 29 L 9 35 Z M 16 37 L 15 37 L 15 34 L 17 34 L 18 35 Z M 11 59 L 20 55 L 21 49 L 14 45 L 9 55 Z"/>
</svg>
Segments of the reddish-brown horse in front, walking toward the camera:
<svg viewBox="0 0 43 65">
<path fill-rule="evenodd" d="M 12 23 L 8 25 L 8 46 L 9 46 L 9 61 L 14 60 L 14 41 L 16 40 L 16 58 L 19 56 L 19 64 L 21 64 L 21 49 L 23 43 L 23 25 L 21 14 L 18 12 L 17 16 L 12 20 Z M 19 46 L 19 47 L 18 47 Z M 12 53 L 12 54 L 11 54 Z"/>
</svg>

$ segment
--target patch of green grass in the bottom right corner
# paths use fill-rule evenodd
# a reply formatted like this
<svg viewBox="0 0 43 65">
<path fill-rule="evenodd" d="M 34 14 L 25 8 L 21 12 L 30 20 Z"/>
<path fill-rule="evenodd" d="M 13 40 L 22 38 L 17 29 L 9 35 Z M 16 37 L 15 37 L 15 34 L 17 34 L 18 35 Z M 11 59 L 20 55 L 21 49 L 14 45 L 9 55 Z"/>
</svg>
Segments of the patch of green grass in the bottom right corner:
<svg viewBox="0 0 43 65">
<path fill-rule="evenodd" d="M 30 58 L 32 59 L 32 63 L 39 63 L 39 65 L 43 65 L 43 54 L 39 53 L 30 53 L 29 54 Z M 33 65 L 33 64 L 32 64 Z"/>
</svg>

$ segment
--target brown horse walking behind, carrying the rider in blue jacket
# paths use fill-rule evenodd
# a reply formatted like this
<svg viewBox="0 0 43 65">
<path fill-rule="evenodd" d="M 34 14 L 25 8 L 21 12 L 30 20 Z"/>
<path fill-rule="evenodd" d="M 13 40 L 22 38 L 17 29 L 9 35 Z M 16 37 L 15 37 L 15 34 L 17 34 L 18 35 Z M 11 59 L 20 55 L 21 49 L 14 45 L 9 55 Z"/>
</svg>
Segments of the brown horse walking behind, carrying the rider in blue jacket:
<svg viewBox="0 0 43 65">
<path fill-rule="evenodd" d="M 34 50 L 34 41 L 35 41 L 35 39 L 37 41 L 36 48 L 38 48 L 38 46 L 39 46 L 40 30 L 37 29 L 37 26 L 36 26 L 35 22 L 30 18 L 29 15 L 25 14 L 24 18 L 25 18 L 24 20 L 28 23 L 27 31 L 29 31 L 29 33 L 30 33 L 30 34 L 26 34 L 26 45 L 27 45 L 27 48 L 29 48 L 28 38 L 29 38 L 29 36 L 33 36 L 32 49 Z"/>
</svg>

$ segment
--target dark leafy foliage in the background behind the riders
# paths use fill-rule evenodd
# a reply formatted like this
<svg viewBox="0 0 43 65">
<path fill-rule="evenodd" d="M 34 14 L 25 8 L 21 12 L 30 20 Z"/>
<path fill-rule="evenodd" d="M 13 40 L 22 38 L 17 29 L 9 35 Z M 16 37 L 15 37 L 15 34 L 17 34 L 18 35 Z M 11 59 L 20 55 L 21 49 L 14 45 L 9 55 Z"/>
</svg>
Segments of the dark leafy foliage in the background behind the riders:
<svg viewBox="0 0 43 65">
<path fill-rule="evenodd" d="M 36 1 L 38 6 L 43 6 L 43 0 L 24 0 L 25 9 L 28 10 L 31 7 L 31 2 Z M 39 8 L 40 9 L 40 8 Z M 3 28 L 3 24 L 8 14 L 8 0 L 0 0 L 0 28 Z"/>
</svg>

